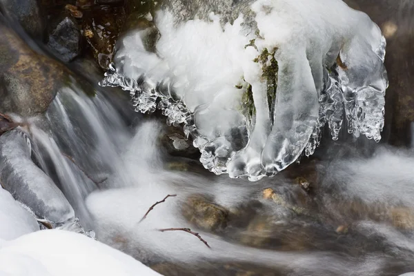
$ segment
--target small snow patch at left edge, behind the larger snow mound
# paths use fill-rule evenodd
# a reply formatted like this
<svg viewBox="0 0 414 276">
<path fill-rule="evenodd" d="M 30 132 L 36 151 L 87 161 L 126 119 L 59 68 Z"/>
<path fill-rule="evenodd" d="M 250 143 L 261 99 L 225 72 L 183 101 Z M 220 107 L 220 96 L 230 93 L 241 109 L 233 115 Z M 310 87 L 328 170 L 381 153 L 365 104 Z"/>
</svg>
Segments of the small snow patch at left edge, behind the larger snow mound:
<svg viewBox="0 0 414 276">
<path fill-rule="evenodd" d="M 0 188 L 0 239 L 8 241 L 37 230 L 34 216 Z"/>
</svg>

